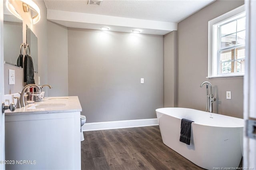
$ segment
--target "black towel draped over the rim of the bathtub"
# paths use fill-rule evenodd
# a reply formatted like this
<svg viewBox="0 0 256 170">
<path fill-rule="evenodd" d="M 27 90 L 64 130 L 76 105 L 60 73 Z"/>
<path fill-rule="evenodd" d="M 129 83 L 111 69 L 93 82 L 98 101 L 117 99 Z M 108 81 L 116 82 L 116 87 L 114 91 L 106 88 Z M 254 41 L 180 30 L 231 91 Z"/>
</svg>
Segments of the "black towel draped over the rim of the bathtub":
<svg viewBox="0 0 256 170">
<path fill-rule="evenodd" d="M 181 119 L 180 124 L 180 142 L 190 145 L 190 136 L 191 136 L 191 123 L 188 119 Z"/>
</svg>

